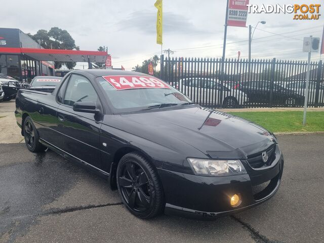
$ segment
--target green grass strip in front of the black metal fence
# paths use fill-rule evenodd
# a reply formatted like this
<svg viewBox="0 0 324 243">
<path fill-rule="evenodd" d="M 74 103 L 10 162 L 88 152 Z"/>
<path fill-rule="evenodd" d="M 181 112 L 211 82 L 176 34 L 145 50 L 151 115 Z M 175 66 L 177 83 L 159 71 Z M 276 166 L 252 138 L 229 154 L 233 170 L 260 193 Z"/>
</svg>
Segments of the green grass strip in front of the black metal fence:
<svg viewBox="0 0 324 243">
<path fill-rule="evenodd" d="M 228 112 L 253 121 L 274 133 L 324 132 L 324 111 L 307 112 L 306 126 L 303 127 L 303 111 L 256 111 Z"/>
</svg>

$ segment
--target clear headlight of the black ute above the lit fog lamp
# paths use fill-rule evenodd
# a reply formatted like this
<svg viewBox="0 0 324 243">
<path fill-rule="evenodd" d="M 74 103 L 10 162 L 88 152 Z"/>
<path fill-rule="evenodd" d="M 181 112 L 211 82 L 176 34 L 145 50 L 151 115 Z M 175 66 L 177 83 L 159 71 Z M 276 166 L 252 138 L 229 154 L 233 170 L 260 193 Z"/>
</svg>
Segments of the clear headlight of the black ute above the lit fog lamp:
<svg viewBox="0 0 324 243">
<path fill-rule="evenodd" d="M 211 160 L 204 158 L 187 158 L 193 172 L 200 176 L 231 176 L 246 174 L 239 160 Z"/>
</svg>

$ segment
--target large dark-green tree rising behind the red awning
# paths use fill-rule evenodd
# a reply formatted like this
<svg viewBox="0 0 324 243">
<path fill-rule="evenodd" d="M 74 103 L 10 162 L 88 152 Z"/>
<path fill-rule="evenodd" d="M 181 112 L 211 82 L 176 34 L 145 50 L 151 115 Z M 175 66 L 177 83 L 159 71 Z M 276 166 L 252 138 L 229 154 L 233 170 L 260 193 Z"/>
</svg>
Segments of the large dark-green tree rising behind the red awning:
<svg viewBox="0 0 324 243">
<path fill-rule="evenodd" d="M 28 33 L 28 35 L 34 39 L 37 43 L 41 44 L 45 49 L 63 49 L 63 50 L 79 50 L 80 48 L 75 45 L 75 41 L 72 36 L 65 29 L 58 27 L 52 27 L 49 31 L 45 29 L 39 29 L 34 35 Z M 55 68 L 59 69 L 63 64 L 68 69 L 75 67 L 75 62 L 54 62 Z"/>
</svg>

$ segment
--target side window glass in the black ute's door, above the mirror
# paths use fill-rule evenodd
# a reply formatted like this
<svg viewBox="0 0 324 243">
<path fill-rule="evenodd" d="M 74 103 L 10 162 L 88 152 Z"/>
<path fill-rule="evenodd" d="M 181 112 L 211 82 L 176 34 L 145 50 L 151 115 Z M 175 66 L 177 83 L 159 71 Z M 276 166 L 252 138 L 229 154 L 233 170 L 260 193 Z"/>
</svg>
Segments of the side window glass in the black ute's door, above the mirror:
<svg viewBox="0 0 324 243">
<path fill-rule="evenodd" d="M 72 74 L 64 95 L 63 104 L 73 106 L 77 101 L 92 101 L 97 103 L 97 93 L 88 78 Z"/>
</svg>

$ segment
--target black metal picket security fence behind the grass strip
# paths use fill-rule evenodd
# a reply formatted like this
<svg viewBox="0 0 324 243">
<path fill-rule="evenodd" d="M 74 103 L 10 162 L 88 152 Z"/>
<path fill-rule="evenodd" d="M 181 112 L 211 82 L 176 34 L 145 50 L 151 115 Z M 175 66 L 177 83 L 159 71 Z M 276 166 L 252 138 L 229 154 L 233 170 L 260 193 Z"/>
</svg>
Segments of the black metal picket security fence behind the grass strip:
<svg viewBox="0 0 324 243">
<path fill-rule="evenodd" d="M 301 107 L 305 100 L 305 61 L 274 59 L 164 58 L 161 79 L 195 103 L 211 108 Z M 323 64 L 310 63 L 308 105 L 324 106 Z"/>
</svg>

